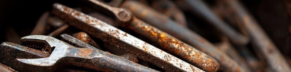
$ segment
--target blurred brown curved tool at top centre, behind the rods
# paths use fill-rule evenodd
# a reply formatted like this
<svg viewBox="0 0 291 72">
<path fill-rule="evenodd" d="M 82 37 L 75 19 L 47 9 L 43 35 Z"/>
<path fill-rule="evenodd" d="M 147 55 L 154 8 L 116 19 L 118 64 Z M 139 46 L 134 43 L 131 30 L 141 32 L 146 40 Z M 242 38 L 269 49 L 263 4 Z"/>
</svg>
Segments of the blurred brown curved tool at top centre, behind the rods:
<svg viewBox="0 0 291 72">
<path fill-rule="evenodd" d="M 153 0 L 152 8 L 174 19 L 179 25 L 187 27 L 184 13 L 170 0 Z"/>
</svg>

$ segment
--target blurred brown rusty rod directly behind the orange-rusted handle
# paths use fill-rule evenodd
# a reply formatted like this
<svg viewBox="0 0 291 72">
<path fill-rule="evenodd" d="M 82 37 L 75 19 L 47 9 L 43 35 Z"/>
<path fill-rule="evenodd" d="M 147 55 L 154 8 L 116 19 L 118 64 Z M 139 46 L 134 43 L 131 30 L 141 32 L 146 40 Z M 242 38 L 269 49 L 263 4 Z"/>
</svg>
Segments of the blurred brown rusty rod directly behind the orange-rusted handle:
<svg viewBox="0 0 291 72">
<path fill-rule="evenodd" d="M 226 55 L 226 53 L 217 49 L 213 44 L 211 44 L 209 41 L 207 41 L 205 38 L 201 37 L 200 35 L 196 34 L 195 32 L 192 32 L 189 29 L 183 28 L 175 23 L 168 23 L 167 20 L 160 21 L 160 20 L 157 20 L 159 18 L 155 19 L 155 18 L 145 17 L 149 15 L 153 15 L 152 17 L 156 17 L 155 15 L 157 13 L 153 13 L 151 9 L 148 9 L 149 7 L 142 5 L 142 3 L 139 3 L 137 1 L 125 1 L 123 2 L 121 7 L 129 8 L 129 10 L 131 10 L 134 13 L 137 13 L 137 15 L 140 14 L 140 16 L 143 18 L 154 20 L 152 22 L 158 21 L 159 23 L 152 23 L 152 25 L 167 32 L 169 35 L 172 35 L 173 37 L 181 41 L 184 41 L 185 43 L 191 46 L 194 46 L 195 48 L 201 50 L 202 52 L 205 52 L 206 54 L 212 56 L 219 62 L 220 70 L 226 71 L 226 72 L 247 71 L 247 69 L 241 67 L 237 62 L 233 61 L 233 59 L 231 59 L 228 55 Z M 151 31 L 150 28 L 148 28 L 148 30 Z M 149 33 L 152 35 L 155 35 L 156 32 L 149 32 Z M 162 37 L 159 37 L 159 38 L 162 38 Z"/>
</svg>

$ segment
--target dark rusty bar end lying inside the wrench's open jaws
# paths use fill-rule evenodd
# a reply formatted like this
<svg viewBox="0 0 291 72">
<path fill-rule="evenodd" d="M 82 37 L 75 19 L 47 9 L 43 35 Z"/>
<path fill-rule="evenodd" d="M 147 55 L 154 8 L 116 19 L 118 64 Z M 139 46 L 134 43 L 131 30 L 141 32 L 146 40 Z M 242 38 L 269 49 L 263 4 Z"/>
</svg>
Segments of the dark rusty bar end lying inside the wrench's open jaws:
<svg viewBox="0 0 291 72">
<path fill-rule="evenodd" d="M 45 58 L 49 57 L 49 52 L 32 49 L 15 43 L 3 42 L 0 45 L 1 63 L 15 69 L 13 65 L 16 58 Z"/>
</svg>

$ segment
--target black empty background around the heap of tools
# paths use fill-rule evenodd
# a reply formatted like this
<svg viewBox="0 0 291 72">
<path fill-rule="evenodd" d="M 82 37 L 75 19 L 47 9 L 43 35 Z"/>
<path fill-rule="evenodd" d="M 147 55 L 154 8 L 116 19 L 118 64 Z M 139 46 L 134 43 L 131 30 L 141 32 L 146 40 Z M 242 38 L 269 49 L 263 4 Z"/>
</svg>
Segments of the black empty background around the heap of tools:
<svg viewBox="0 0 291 72">
<path fill-rule="evenodd" d="M 110 0 L 109 0 L 110 1 Z M 108 1 L 108 2 L 109 2 Z M 53 3 L 78 7 L 77 0 L 0 0 L 0 42 L 11 41 L 13 36 L 30 34 L 39 17 L 52 10 Z M 210 7 L 217 0 L 206 0 Z M 291 55 L 291 1 L 290 0 L 241 0 L 242 4 L 263 27 L 280 51 Z M 16 32 L 16 33 L 15 33 Z M 17 38 L 17 37 L 16 37 Z"/>
</svg>

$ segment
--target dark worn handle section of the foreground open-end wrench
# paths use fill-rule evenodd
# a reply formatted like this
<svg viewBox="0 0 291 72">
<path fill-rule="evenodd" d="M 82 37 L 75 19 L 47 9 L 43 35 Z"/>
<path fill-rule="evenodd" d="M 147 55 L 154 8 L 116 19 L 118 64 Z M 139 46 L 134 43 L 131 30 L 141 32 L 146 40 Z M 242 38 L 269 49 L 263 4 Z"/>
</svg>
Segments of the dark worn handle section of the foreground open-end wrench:
<svg viewBox="0 0 291 72">
<path fill-rule="evenodd" d="M 125 58 L 113 55 L 109 52 L 104 52 L 96 49 L 91 53 L 91 55 L 92 54 L 95 54 L 91 58 L 93 63 L 95 63 L 99 67 L 103 67 L 109 70 L 117 72 L 158 72 L 151 68 L 129 61 Z"/>
</svg>

